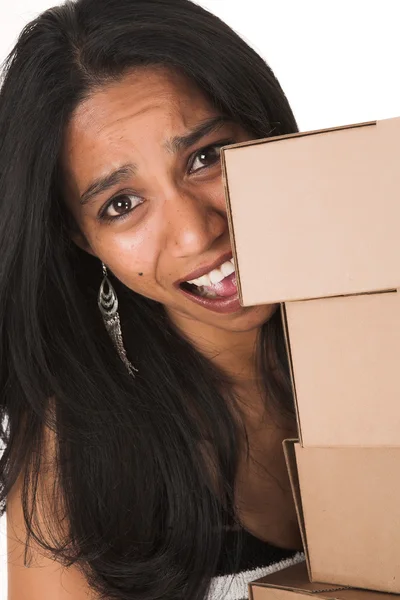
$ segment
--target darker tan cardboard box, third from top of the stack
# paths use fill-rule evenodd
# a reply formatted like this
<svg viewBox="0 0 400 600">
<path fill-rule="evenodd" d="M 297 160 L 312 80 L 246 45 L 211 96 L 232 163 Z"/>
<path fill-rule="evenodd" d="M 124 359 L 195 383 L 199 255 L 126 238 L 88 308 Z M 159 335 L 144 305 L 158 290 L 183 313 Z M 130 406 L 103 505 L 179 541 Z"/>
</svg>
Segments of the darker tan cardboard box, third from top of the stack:
<svg viewBox="0 0 400 600">
<path fill-rule="evenodd" d="M 284 451 L 310 580 L 400 593 L 400 447 Z"/>
</svg>

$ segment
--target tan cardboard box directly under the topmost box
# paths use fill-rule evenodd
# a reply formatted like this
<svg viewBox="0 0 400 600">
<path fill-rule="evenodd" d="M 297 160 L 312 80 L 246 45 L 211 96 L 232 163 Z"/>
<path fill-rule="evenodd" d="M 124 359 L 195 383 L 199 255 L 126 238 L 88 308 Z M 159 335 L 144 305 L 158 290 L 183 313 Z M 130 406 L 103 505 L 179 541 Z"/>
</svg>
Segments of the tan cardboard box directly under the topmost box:
<svg viewBox="0 0 400 600">
<path fill-rule="evenodd" d="M 400 292 L 286 302 L 282 317 L 302 445 L 400 446 Z"/>
</svg>

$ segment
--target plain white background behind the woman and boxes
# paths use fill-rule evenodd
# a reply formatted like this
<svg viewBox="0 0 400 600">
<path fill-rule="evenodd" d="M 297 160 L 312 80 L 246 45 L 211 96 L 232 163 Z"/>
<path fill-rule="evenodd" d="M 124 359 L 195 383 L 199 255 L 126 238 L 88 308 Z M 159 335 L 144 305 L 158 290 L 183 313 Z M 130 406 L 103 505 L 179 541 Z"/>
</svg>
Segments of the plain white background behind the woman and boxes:
<svg viewBox="0 0 400 600">
<path fill-rule="evenodd" d="M 25 23 L 56 2 L 0 0 L 0 61 Z M 269 62 L 301 130 L 400 116 L 398 0 L 199 0 L 198 4 L 226 21 Z M 3 517 L 0 600 L 6 598 Z"/>
</svg>

